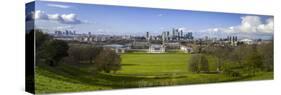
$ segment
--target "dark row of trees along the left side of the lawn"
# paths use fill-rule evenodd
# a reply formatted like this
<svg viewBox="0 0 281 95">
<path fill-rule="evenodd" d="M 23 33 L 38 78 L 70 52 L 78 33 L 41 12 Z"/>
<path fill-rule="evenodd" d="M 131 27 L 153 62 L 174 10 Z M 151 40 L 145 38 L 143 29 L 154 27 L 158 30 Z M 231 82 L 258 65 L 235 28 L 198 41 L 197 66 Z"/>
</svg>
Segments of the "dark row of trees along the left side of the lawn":
<svg viewBox="0 0 281 95">
<path fill-rule="evenodd" d="M 35 32 L 36 42 L 36 63 L 47 64 L 50 67 L 58 66 L 61 63 L 83 64 L 93 66 L 94 72 L 116 72 L 121 69 L 120 55 L 109 48 L 93 45 L 71 46 L 68 42 L 54 39 L 42 30 Z"/>
</svg>

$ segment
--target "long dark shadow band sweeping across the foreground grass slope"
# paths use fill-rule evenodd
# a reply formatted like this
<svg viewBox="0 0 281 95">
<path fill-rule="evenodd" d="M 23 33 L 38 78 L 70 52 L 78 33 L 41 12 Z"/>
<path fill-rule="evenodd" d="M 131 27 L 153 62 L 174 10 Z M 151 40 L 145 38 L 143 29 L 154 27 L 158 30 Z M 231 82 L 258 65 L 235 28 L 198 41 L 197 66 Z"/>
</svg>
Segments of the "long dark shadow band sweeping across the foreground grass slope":
<svg viewBox="0 0 281 95">
<path fill-rule="evenodd" d="M 154 79 L 181 79 L 187 78 L 186 75 L 167 75 L 167 76 L 132 76 L 132 75 L 112 75 L 105 73 L 92 73 L 86 70 L 81 70 L 75 65 L 62 64 L 57 67 L 49 66 L 37 66 L 37 68 L 43 69 L 50 73 L 40 73 L 46 77 L 67 81 L 75 84 L 83 84 L 90 86 L 106 86 L 112 89 L 120 88 L 138 88 L 138 87 L 156 87 L 156 86 L 170 86 L 170 84 L 161 85 L 160 81 L 155 81 Z M 210 75 L 215 73 L 210 73 Z M 187 85 L 187 84 L 204 84 L 204 83 L 221 83 L 238 81 L 251 78 L 253 76 L 242 76 L 242 77 L 232 77 L 226 80 L 208 80 L 208 81 L 183 81 L 182 83 L 176 83 L 171 85 Z M 151 81 L 150 81 L 151 80 Z M 169 82 L 169 81 L 163 81 Z M 143 84 L 147 85 L 143 85 Z M 152 85 L 150 85 L 152 83 Z M 155 83 L 155 84 L 153 84 Z"/>
</svg>

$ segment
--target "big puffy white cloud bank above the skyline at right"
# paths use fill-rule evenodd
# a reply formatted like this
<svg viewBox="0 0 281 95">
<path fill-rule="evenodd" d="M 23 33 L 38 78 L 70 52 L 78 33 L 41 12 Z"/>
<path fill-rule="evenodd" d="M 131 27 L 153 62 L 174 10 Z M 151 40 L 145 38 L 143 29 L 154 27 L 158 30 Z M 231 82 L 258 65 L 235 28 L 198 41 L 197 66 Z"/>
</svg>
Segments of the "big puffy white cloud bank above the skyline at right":
<svg viewBox="0 0 281 95">
<path fill-rule="evenodd" d="M 259 16 L 241 17 L 241 23 L 230 27 L 215 27 L 202 29 L 195 32 L 196 37 L 225 37 L 227 35 L 236 35 L 239 38 L 265 38 L 270 39 L 274 32 L 274 19 L 261 19 Z"/>
</svg>

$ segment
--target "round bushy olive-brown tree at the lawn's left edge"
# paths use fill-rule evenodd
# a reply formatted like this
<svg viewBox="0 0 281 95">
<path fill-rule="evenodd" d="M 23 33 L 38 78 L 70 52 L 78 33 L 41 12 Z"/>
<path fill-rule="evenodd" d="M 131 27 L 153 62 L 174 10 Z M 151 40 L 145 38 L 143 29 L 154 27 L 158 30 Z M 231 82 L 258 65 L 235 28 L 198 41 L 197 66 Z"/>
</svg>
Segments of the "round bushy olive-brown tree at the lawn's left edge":
<svg viewBox="0 0 281 95">
<path fill-rule="evenodd" d="M 105 48 L 95 58 L 95 67 L 98 71 L 104 71 L 106 73 L 110 73 L 111 71 L 116 72 L 121 69 L 120 62 L 120 55 L 111 49 Z"/>
</svg>

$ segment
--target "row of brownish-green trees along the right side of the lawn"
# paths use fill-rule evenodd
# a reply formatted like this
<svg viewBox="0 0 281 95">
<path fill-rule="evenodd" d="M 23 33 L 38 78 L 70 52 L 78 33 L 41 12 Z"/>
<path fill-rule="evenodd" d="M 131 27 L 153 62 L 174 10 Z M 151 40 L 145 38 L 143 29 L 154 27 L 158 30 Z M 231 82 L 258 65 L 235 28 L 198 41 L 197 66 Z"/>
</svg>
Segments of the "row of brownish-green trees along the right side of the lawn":
<svg viewBox="0 0 281 95">
<path fill-rule="evenodd" d="M 254 76 L 257 72 L 273 71 L 273 42 L 239 45 L 206 46 L 200 53 L 193 54 L 188 62 L 191 72 L 209 71 L 208 57 L 216 60 L 216 72 L 229 76 Z"/>
</svg>

